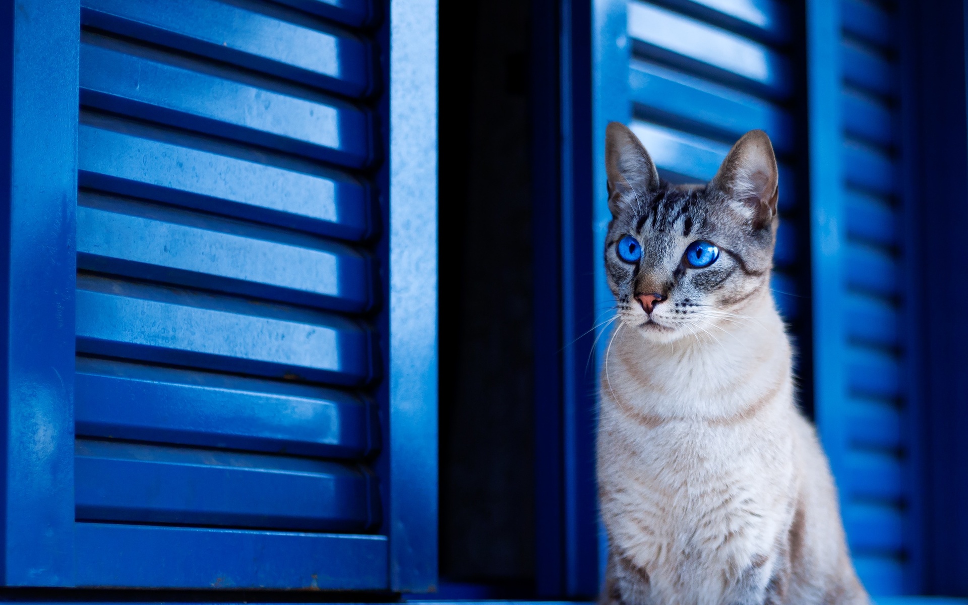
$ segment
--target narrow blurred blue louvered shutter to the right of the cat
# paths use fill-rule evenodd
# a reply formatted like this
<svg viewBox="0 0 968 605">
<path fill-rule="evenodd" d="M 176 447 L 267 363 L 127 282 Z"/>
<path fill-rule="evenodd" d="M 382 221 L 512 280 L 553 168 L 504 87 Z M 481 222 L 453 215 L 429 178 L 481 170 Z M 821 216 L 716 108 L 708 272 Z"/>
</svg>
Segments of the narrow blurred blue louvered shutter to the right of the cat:
<svg viewBox="0 0 968 605">
<path fill-rule="evenodd" d="M 894 9 L 807 3 L 816 417 L 872 594 L 917 590 L 909 267 Z"/>
</svg>

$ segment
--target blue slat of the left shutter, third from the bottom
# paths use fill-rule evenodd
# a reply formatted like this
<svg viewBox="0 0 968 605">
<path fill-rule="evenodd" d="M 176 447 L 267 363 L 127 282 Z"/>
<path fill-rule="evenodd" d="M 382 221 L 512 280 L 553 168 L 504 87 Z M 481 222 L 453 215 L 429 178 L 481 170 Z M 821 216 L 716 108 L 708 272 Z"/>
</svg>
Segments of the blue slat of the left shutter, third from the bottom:
<svg viewBox="0 0 968 605">
<path fill-rule="evenodd" d="M 370 335 L 345 318 L 94 277 L 77 287 L 78 351 L 345 385 L 376 376 Z"/>
</svg>

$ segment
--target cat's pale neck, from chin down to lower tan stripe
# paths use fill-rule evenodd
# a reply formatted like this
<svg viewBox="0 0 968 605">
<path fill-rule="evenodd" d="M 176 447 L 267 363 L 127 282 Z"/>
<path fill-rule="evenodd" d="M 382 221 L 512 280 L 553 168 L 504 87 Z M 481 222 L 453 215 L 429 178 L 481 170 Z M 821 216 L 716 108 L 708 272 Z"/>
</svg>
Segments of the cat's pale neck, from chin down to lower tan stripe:
<svg viewBox="0 0 968 605">
<path fill-rule="evenodd" d="M 728 419 L 791 389 L 791 349 L 769 290 L 733 317 L 672 343 L 620 326 L 604 388 L 620 405 L 657 419 Z"/>
</svg>

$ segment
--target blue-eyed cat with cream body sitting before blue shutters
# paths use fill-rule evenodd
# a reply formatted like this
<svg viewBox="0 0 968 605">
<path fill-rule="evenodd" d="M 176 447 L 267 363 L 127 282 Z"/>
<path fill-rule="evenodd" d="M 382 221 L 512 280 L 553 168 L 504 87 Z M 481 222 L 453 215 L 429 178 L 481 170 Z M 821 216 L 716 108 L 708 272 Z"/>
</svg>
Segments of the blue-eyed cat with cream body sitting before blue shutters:
<svg viewBox="0 0 968 605">
<path fill-rule="evenodd" d="M 771 296 L 769 136 L 742 136 L 708 185 L 671 185 L 612 123 L 606 167 L 618 327 L 601 370 L 599 603 L 869 603 Z"/>
</svg>

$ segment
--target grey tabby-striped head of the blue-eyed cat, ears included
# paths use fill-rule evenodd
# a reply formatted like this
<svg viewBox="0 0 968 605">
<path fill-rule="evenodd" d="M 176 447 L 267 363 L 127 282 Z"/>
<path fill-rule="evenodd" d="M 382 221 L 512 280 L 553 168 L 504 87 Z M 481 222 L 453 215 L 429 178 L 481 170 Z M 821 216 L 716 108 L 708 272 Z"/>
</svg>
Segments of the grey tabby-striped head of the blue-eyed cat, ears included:
<svg viewBox="0 0 968 605">
<path fill-rule="evenodd" d="M 605 163 L 605 267 L 624 323 L 672 342 L 714 333 L 769 295 L 778 217 L 766 133 L 743 135 L 707 185 L 661 180 L 638 137 L 617 122 L 608 127 Z"/>
</svg>

